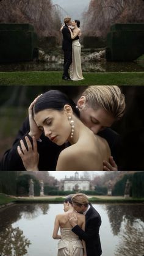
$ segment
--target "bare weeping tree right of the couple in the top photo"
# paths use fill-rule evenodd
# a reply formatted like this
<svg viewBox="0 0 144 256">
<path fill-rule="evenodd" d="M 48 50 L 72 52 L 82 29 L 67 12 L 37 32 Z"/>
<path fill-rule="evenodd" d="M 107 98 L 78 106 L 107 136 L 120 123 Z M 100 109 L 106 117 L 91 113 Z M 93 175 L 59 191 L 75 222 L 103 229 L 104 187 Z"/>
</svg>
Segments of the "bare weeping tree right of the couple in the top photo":
<svg viewBox="0 0 144 256">
<path fill-rule="evenodd" d="M 84 13 L 83 35 L 106 37 L 115 23 L 144 22 L 142 0 L 91 0 Z"/>
</svg>

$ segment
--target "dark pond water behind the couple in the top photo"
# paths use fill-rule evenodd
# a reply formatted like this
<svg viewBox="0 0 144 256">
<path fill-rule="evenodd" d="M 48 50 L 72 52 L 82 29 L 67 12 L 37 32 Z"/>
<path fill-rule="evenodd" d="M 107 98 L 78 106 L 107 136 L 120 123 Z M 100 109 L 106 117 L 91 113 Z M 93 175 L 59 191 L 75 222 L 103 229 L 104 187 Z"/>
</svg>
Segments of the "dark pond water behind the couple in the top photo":
<svg viewBox="0 0 144 256">
<path fill-rule="evenodd" d="M 0 71 L 62 71 L 63 64 L 56 62 L 21 62 L 12 64 L 1 64 Z M 144 71 L 141 63 L 136 62 L 84 62 L 82 63 L 84 72 L 131 72 Z"/>
</svg>

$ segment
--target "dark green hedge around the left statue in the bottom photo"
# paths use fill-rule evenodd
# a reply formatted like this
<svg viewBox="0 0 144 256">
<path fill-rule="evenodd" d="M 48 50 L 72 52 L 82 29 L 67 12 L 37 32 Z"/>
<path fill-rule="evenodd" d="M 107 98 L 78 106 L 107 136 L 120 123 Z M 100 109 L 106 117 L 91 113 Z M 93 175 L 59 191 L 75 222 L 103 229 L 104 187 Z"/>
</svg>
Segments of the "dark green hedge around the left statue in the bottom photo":
<svg viewBox="0 0 144 256">
<path fill-rule="evenodd" d="M 40 196 L 40 183 L 31 174 L 24 174 L 20 175 L 17 179 L 17 194 L 18 196 L 28 196 L 29 195 L 29 180 L 34 181 L 34 195 L 35 196 Z"/>
</svg>

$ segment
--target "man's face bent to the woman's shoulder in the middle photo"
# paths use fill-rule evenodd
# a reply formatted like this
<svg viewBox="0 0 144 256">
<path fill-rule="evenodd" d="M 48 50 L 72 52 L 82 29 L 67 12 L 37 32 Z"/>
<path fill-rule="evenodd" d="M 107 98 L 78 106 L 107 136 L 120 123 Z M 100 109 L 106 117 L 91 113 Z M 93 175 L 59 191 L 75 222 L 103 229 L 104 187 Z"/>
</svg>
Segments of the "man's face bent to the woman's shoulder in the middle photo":
<svg viewBox="0 0 144 256">
<path fill-rule="evenodd" d="M 85 106 L 80 111 L 80 119 L 93 133 L 97 134 L 106 127 L 112 126 L 115 119 L 107 113 L 103 108 L 94 110 Z"/>
</svg>

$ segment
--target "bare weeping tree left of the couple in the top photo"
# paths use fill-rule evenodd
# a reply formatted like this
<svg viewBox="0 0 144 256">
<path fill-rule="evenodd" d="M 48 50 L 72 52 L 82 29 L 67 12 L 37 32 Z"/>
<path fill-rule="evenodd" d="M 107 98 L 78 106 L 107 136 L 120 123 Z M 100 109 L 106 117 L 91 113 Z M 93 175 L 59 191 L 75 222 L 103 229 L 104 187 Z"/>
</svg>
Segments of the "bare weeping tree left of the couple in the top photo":
<svg viewBox="0 0 144 256">
<path fill-rule="evenodd" d="M 1 23 L 29 23 L 39 37 L 60 36 L 60 13 L 51 0 L 2 0 Z"/>
</svg>

